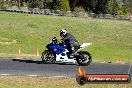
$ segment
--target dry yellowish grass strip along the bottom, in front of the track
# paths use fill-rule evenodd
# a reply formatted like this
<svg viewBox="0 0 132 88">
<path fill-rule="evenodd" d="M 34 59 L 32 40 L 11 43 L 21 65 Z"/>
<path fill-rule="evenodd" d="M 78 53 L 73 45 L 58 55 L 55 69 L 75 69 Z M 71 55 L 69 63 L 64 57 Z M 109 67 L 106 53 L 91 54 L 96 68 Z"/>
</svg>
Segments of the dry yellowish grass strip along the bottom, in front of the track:
<svg viewBox="0 0 132 88">
<path fill-rule="evenodd" d="M 80 86 L 75 78 L 46 78 L 0 76 L 0 88 L 132 88 L 128 84 L 85 84 Z"/>
</svg>

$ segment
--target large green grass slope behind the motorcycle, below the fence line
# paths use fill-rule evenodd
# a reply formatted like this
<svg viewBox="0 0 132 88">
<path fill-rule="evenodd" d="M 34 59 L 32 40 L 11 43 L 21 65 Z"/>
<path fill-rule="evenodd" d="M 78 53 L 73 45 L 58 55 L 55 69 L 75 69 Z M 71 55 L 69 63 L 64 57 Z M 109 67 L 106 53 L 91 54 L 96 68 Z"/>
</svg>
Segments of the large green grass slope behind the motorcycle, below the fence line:
<svg viewBox="0 0 132 88">
<path fill-rule="evenodd" d="M 72 18 L 0 12 L 0 53 L 35 54 L 45 49 L 52 37 L 59 37 L 59 29 L 66 28 L 81 43 L 92 42 L 88 50 L 93 60 L 132 61 L 132 22 L 93 18 Z"/>
</svg>

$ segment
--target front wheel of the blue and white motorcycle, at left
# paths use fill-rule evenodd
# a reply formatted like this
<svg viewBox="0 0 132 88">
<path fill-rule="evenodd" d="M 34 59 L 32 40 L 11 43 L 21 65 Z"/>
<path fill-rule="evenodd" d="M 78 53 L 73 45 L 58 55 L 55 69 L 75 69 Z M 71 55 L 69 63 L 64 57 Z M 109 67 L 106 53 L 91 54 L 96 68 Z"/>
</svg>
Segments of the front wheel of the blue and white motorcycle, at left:
<svg viewBox="0 0 132 88">
<path fill-rule="evenodd" d="M 55 55 L 53 53 L 49 52 L 48 50 L 45 50 L 42 53 L 41 59 L 42 59 L 42 62 L 46 63 L 46 64 L 55 63 Z"/>
</svg>

